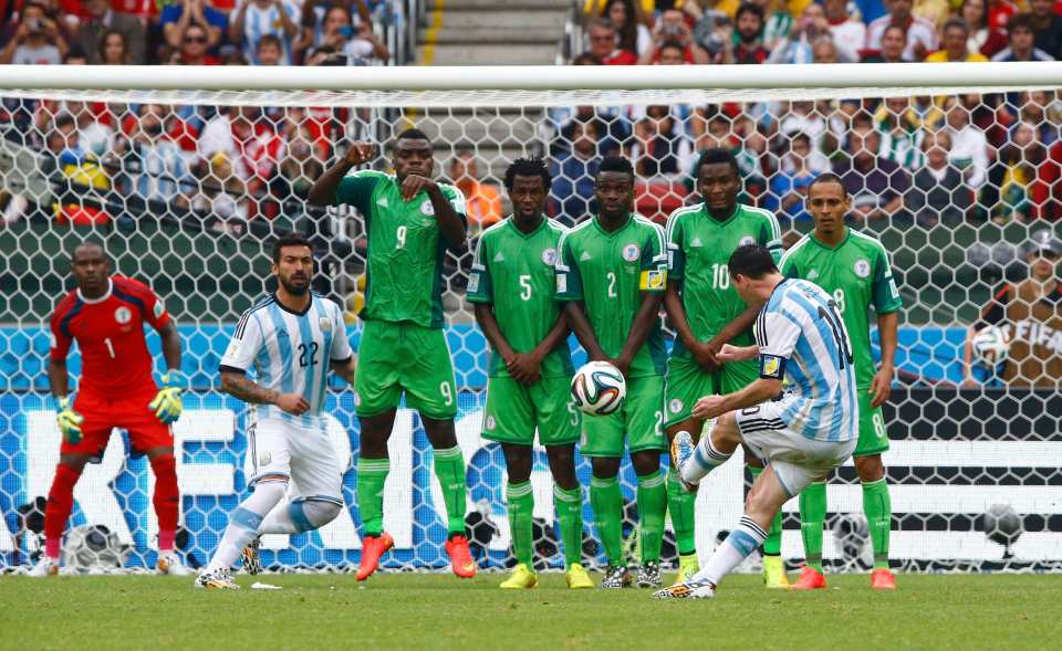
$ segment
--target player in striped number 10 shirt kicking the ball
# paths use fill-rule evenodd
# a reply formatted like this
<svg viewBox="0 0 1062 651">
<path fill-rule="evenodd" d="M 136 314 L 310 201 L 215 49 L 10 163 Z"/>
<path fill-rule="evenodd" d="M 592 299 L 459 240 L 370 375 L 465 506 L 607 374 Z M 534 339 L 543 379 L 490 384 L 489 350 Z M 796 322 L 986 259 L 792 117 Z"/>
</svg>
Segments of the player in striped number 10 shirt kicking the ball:
<svg viewBox="0 0 1062 651">
<path fill-rule="evenodd" d="M 770 252 L 757 244 L 738 248 L 728 270 L 741 298 L 763 307 L 756 345 L 728 344 L 717 357 L 729 363 L 758 356 L 760 377 L 740 391 L 698 400 L 694 416 L 716 421 L 696 445 L 679 432 L 671 453 L 691 485 L 742 443 L 767 466 L 738 526 L 691 580 L 654 595 L 660 599 L 714 597 L 722 577 L 767 538 L 782 504 L 841 465 L 858 438 L 852 347 L 833 297 L 808 281 L 784 279 Z M 783 393 L 785 379 L 791 384 Z"/>
</svg>

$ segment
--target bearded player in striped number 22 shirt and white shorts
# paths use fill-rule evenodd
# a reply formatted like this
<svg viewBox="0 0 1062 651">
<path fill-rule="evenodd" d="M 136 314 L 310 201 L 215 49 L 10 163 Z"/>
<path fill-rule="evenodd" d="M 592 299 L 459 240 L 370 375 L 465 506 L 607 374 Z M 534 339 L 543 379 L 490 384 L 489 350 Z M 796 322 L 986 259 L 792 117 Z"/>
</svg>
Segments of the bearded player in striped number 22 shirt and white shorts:
<svg viewBox="0 0 1062 651">
<path fill-rule="evenodd" d="M 354 382 L 343 314 L 310 291 L 313 255 L 302 235 L 273 243 L 273 275 L 277 292 L 243 313 L 220 366 L 221 389 L 256 406 L 243 466 L 253 493 L 229 515 L 198 588 L 239 588 L 231 567 L 242 554 L 257 574 L 259 536 L 316 529 L 343 508 L 343 469 L 321 417 L 329 369 Z"/>
</svg>

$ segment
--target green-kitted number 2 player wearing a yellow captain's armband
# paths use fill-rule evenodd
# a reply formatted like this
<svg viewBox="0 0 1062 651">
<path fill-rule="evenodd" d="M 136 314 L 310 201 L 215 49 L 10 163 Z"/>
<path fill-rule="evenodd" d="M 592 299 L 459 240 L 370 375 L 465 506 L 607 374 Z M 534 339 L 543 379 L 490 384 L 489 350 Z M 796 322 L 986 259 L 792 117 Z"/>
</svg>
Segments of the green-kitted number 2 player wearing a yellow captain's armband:
<svg viewBox="0 0 1062 651">
<path fill-rule="evenodd" d="M 634 169 L 625 158 L 601 162 L 594 192 L 598 213 L 564 233 L 558 245 L 556 300 L 591 360 L 612 363 L 626 377 L 623 407 L 583 418 L 580 451 L 591 458 L 590 501 L 608 558 L 602 588 L 633 577 L 623 552 L 620 460 L 624 440 L 638 475 L 642 565 L 638 587 L 660 585 L 660 544 L 667 491 L 660 474 L 666 353 L 659 309 L 667 282 L 664 230 L 633 214 Z"/>
</svg>

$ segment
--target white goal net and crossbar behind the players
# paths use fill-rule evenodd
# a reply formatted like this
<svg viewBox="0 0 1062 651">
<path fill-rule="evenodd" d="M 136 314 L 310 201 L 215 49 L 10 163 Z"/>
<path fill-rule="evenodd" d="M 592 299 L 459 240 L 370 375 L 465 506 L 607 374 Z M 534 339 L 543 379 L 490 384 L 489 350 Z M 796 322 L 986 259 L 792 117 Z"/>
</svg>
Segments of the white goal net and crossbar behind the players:
<svg viewBox="0 0 1062 651">
<path fill-rule="evenodd" d="M 48 321 L 72 288 L 73 246 L 103 242 L 114 272 L 149 284 L 178 323 L 190 381 L 175 427 L 178 544 L 190 565 L 204 564 L 246 492 L 248 413 L 220 392 L 218 363 L 240 314 L 272 287 L 270 242 L 290 231 L 312 239 L 314 285 L 345 307 L 356 340 L 364 223 L 353 209 L 310 206 L 306 192 L 355 139 L 381 144 L 368 167 L 388 170 L 393 136 L 416 126 L 435 143 L 439 178 L 467 197 L 469 249 L 508 214 L 501 180 L 521 156 L 550 161 L 549 209 L 565 224 L 593 211 L 600 157 L 628 156 L 638 175 L 634 209 L 663 224 L 699 200 L 698 153 L 731 149 L 740 200 L 774 211 L 787 246 L 812 228 L 803 203 L 810 180 L 841 174 L 853 196 L 850 223 L 884 243 L 904 300 L 897 377 L 875 423 L 891 440 L 894 561 L 906 570 L 1062 569 L 1062 304 L 1060 290 L 1045 294 L 1030 281 L 1044 265 L 1048 277 L 1062 274 L 1054 90 L 1062 69 L 1034 65 L 327 69 L 280 80 L 232 69 L 201 80 L 189 69 L 183 76 L 169 74 L 175 69 L 20 72 L 0 90 L 0 568 L 30 564 L 41 546 L 60 444 Z M 188 86 L 199 90 L 180 90 Z M 469 249 L 442 270 L 446 336 L 470 540 L 482 568 L 503 568 L 513 563 L 506 469 L 500 448 L 480 435 L 488 347 L 465 300 Z M 988 326 L 1009 336 L 1009 353 L 987 330 L 967 372 L 968 333 Z M 154 333 L 148 340 L 160 359 Z M 989 368 L 993 354 L 1000 365 Z M 76 348 L 70 368 L 76 378 Z M 273 569 L 346 570 L 358 561 L 358 424 L 339 380 L 326 414 L 347 507 L 319 532 L 267 536 L 263 563 Z M 384 524 L 396 549 L 384 566 L 444 568 L 445 510 L 416 413 L 399 410 L 389 450 Z M 154 480 L 146 459 L 128 452 L 125 433 L 115 432 L 77 484 L 70 564 L 154 565 Z M 577 473 L 587 486 L 587 460 L 579 459 Z M 626 461 L 621 476 L 633 549 L 636 480 Z M 542 449 L 532 484 L 537 563 L 556 567 Z M 700 490 L 702 558 L 737 522 L 747 486 L 735 462 Z M 862 512 L 848 462 L 829 485 L 832 567 L 868 567 Z M 583 554 L 595 565 L 602 550 L 592 523 L 587 500 Z M 785 506 L 782 553 L 790 561 L 803 556 L 795 500 Z M 668 534 L 665 563 L 675 556 Z"/>
</svg>

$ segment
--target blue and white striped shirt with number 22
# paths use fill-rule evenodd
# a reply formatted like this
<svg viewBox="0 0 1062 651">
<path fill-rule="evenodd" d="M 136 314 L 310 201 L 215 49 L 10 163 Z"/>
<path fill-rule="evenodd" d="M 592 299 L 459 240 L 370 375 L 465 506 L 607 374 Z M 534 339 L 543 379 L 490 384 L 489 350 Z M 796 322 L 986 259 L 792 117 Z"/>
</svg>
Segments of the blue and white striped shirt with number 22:
<svg viewBox="0 0 1062 651">
<path fill-rule="evenodd" d="M 258 418 L 280 418 L 306 428 L 322 428 L 329 367 L 351 355 L 339 305 L 311 294 L 306 309 L 295 313 L 271 294 L 243 313 L 221 358 L 221 370 L 253 369 L 259 385 L 281 393 L 302 393 L 310 403 L 301 417 L 274 405 L 257 405 Z"/>
</svg>

